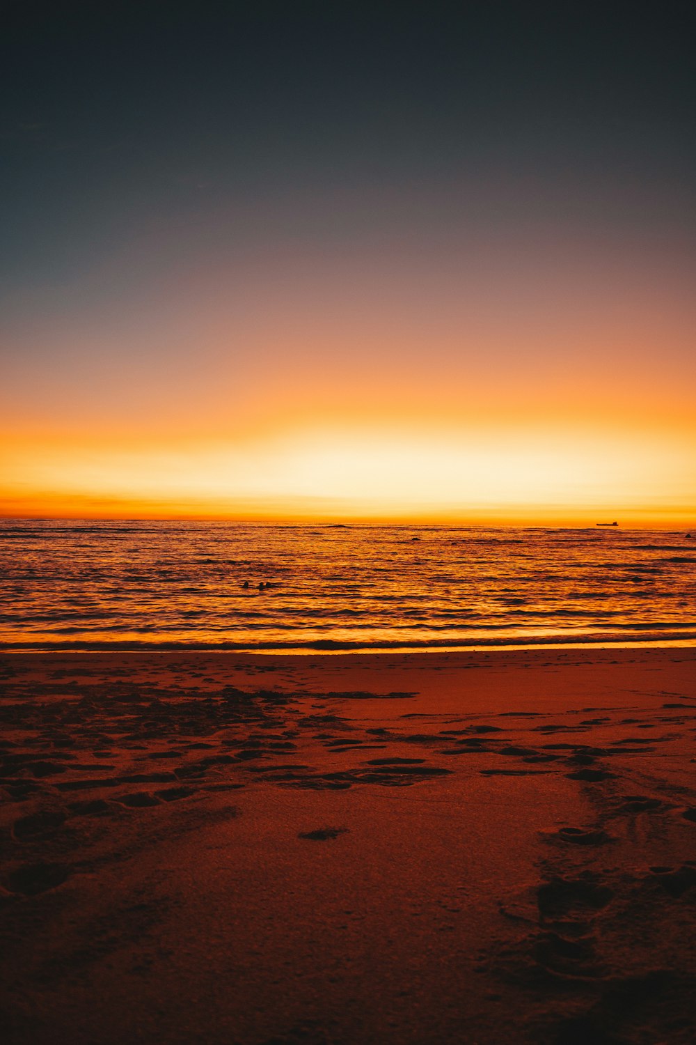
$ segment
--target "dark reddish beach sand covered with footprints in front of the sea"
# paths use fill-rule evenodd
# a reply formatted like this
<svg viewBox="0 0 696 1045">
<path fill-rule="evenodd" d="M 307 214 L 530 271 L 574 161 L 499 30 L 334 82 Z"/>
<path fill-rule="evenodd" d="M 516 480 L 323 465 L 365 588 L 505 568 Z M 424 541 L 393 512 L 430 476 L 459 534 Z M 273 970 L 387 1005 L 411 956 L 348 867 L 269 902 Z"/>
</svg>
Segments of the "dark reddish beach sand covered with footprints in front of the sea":
<svg viewBox="0 0 696 1045">
<path fill-rule="evenodd" d="M 1 655 L 4 1040 L 691 1043 L 695 669 Z"/>
</svg>

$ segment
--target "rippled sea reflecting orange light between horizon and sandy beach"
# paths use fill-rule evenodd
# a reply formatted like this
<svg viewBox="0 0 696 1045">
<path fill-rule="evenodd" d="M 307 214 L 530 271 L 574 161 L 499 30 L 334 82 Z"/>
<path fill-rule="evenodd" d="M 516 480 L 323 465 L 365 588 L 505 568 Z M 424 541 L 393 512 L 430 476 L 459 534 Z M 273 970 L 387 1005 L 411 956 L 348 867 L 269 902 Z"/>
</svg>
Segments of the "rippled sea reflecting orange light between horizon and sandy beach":
<svg viewBox="0 0 696 1045">
<path fill-rule="evenodd" d="M 4 648 L 695 638 L 683 532 L 0 520 Z"/>
</svg>

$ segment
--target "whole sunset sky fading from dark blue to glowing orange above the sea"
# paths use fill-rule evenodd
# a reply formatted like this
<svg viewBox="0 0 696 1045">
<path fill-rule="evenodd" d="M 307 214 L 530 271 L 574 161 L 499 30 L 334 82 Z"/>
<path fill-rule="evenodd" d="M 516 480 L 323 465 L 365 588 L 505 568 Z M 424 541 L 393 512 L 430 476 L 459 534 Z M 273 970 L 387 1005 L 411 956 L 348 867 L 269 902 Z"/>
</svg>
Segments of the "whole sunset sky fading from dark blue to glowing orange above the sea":
<svg viewBox="0 0 696 1045">
<path fill-rule="evenodd" d="M 696 524 L 690 4 L 6 9 L 0 514 Z"/>
</svg>

